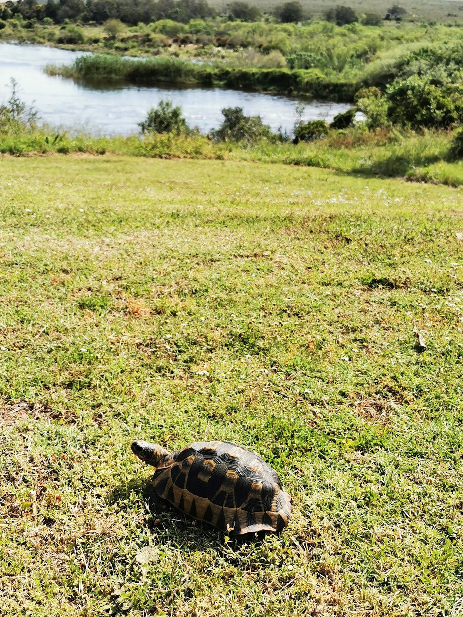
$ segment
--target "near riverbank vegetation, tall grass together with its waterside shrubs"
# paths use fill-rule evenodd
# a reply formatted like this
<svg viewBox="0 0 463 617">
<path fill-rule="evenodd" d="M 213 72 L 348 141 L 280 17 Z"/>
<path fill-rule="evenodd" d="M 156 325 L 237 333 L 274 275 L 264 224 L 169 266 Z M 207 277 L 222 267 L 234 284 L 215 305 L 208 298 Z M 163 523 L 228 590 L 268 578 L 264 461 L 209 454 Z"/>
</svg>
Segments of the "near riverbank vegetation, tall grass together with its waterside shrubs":
<svg viewBox="0 0 463 617">
<path fill-rule="evenodd" d="M 367 96 L 359 99 L 357 105 L 365 99 Z M 35 110 L 19 100 L 13 85 L 9 101 L 0 106 L 0 154 L 88 152 L 255 160 L 463 186 L 461 131 L 412 131 L 391 123 L 370 128 L 368 119 L 354 121 L 356 108 L 339 114 L 330 125 L 323 120 L 304 122 L 303 107 L 298 105 L 299 119 L 293 135 L 272 133 L 260 117 L 246 116 L 239 107 L 223 109 L 222 125 L 209 135 L 201 135 L 186 125 L 180 108 L 162 101 L 140 123 L 140 135 L 94 138 L 40 125 Z"/>
</svg>

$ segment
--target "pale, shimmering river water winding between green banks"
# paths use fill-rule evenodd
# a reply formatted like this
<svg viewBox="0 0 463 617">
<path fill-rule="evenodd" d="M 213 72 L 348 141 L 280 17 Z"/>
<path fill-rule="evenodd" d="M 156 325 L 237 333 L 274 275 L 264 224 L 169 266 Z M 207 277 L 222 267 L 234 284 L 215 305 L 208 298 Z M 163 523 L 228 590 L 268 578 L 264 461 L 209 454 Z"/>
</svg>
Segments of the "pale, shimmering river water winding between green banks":
<svg viewBox="0 0 463 617">
<path fill-rule="evenodd" d="M 223 107 L 243 107 L 246 115 L 261 115 L 276 131 L 291 130 L 296 120 L 298 99 L 233 90 L 228 88 L 181 88 L 160 83 L 140 86 L 114 81 L 77 81 L 51 77 L 44 73 L 47 64 L 72 64 L 83 52 L 65 51 L 40 45 L 0 44 L 0 104 L 10 93 L 10 80 L 19 84 L 20 98 L 33 105 L 43 122 L 93 135 L 130 135 L 151 107 L 161 99 L 180 105 L 190 126 L 202 132 L 217 128 Z M 349 109 L 348 104 L 309 101 L 304 119 L 332 118 Z"/>
</svg>

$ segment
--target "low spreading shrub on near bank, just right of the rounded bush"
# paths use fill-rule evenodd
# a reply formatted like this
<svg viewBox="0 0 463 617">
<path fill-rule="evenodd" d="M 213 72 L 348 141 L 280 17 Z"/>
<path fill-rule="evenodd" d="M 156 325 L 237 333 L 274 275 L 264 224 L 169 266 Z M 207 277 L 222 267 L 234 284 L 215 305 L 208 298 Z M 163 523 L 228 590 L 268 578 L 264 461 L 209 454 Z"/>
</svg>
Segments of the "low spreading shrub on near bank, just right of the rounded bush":
<svg viewBox="0 0 463 617">
<path fill-rule="evenodd" d="M 270 126 L 262 123 L 260 116 L 245 116 L 243 107 L 227 107 L 222 109 L 225 118 L 222 125 L 211 131 L 215 141 L 259 141 L 259 139 L 275 138 Z"/>
</svg>

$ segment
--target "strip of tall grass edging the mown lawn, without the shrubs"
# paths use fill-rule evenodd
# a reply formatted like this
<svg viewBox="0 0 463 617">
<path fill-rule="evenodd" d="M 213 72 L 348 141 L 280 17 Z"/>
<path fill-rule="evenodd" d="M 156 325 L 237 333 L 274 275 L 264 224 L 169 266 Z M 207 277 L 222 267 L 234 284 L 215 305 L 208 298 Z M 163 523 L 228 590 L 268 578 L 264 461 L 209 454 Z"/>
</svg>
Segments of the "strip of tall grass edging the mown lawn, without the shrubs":
<svg viewBox="0 0 463 617">
<path fill-rule="evenodd" d="M 124 137 L 70 136 L 52 130 L 0 135 L 0 153 L 13 156 L 52 154 L 125 155 L 157 159 L 249 161 L 326 168 L 349 174 L 399 177 L 409 181 L 463 185 L 463 164 L 449 160 L 454 131 L 421 134 L 395 129 L 330 131 L 311 143 L 215 143 L 202 135 Z"/>
</svg>

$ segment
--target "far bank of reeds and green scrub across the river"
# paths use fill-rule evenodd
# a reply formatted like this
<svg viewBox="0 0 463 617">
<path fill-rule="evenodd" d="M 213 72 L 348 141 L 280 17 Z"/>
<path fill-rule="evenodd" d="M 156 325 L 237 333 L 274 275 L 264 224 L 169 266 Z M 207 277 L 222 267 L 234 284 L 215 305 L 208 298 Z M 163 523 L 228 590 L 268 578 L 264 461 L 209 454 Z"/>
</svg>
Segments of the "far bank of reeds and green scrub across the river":
<svg viewBox="0 0 463 617">
<path fill-rule="evenodd" d="M 225 85 L 333 101 L 351 101 L 361 86 L 384 89 L 398 76 L 413 75 L 430 49 L 445 54 L 459 46 L 463 33 L 460 25 L 391 22 L 340 27 L 319 21 L 298 26 L 264 20 L 161 20 L 133 27 L 119 22 L 112 33 L 111 25 L 5 24 L 0 41 L 44 43 L 107 58 L 89 60 L 85 70 L 57 69 L 72 77 L 85 73 L 138 83 Z M 136 67 L 133 60 L 130 65 L 123 56 L 146 57 L 146 64 Z"/>
</svg>

